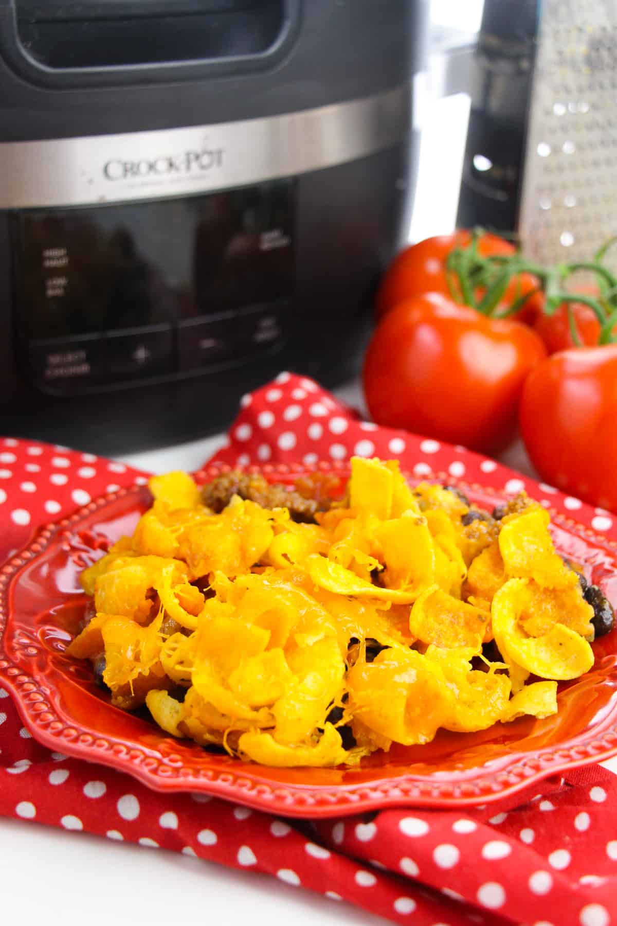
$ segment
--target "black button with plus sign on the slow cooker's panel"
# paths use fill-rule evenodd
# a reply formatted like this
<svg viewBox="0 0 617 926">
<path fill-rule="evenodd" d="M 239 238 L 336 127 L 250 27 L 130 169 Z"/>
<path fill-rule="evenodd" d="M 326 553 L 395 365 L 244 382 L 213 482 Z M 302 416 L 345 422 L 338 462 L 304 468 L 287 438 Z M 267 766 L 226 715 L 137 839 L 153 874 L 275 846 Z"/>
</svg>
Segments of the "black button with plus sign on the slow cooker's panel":
<svg viewBox="0 0 617 926">
<path fill-rule="evenodd" d="M 174 372 L 170 325 L 107 332 L 102 340 L 108 382 L 146 379 Z"/>
</svg>

